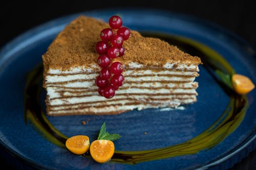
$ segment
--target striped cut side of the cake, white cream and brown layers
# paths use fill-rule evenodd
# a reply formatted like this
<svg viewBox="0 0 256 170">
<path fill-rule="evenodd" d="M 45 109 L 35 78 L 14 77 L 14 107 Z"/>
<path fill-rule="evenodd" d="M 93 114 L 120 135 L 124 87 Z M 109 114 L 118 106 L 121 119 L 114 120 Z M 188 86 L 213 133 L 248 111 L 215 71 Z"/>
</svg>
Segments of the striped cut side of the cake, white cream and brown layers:
<svg viewBox="0 0 256 170">
<path fill-rule="evenodd" d="M 197 68 L 198 69 L 198 68 Z M 136 108 L 177 107 L 197 101 L 193 70 L 132 69 L 123 71 L 125 81 L 115 97 L 106 100 L 95 85 L 97 72 L 54 71 L 46 76 L 48 113 L 108 114 Z M 103 109 L 102 109 L 103 108 Z M 118 110 L 118 112 L 117 112 Z"/>
</svg>

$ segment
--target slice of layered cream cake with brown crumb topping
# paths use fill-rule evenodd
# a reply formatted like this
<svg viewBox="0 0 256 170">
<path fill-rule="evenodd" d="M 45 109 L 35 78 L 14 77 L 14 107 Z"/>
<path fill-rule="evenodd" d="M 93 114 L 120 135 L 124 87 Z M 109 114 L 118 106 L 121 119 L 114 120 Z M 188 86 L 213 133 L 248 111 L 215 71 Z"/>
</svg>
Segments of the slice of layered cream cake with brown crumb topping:
<svg viewBox="0 0 256 170">
<path fill-rule="evenodd" d="M 42 56 L 48 115 L 117 114 L 133 109 L 177 107 L 197 101 L 194 82 L 201 60 L 157 38 L 131 31 L 123 43 L 124 83 L 114 98 L 98 93 L 95 45 L 108 24 L 79 16 L 58 34 Z"/>
</svg>

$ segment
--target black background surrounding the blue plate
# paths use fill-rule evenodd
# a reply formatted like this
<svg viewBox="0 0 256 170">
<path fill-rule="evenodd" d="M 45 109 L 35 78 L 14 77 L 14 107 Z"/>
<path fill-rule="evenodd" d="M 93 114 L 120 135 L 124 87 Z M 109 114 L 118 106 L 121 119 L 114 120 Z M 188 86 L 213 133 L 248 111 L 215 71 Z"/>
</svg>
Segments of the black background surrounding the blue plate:
<svg viewBox="0 0 256 170">
<path fill-rule="evenodd" d="M 29 29 L 61 16 L 106 8 L 143 7 L 193 15 L 236 33 L 256 47 L 256 9 L 253 1 L 2 1 L 0 3 L 0 47 Z M 1 57 L 1 56 L 0 56 Z M 1 147 L 2 148 L 2 147 Z M 0 148 L 0 149 L 1 149 Z M 1 166 L 16 169 L 12 157 L 0 155 Z M 8 158 L 8 159 L 6 159 Z M 256 169 L 256 152 L 252 152 L 232 170 Z M 18 166 L 23 168 L 24 166 Z"/>
</svg>

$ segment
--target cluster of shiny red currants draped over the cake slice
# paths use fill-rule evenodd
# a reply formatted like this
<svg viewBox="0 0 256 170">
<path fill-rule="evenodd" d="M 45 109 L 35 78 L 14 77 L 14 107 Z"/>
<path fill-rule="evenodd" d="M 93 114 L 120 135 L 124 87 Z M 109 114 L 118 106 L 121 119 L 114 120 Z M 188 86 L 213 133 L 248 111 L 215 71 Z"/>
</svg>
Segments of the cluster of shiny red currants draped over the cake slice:
<svg viewBox="0 0 256 170">
<path fill-rule="evenodd" d="M 100 32 L 102 41 L 97 42 L 96 52 L 100 76 L 96 78 L 96 85 L 100 95 L 107 99 L 113 98 L 115 90 L 123 83 L 124 77 L 121 74 L 123 65 L 120 62 L 111 62 L 111 59 L 124 55 L 123 41 L 129 39 L 131 32 L 128 28 L 122 27 L 122 19 L 114 15 L 109 19 L 110 28 Z"/>
</svg>

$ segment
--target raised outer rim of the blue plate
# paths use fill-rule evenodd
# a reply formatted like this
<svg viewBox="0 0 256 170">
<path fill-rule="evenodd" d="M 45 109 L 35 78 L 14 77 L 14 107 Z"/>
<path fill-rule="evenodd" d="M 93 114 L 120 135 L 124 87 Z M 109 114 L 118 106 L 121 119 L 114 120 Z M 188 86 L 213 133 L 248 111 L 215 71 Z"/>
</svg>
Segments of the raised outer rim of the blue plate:
<svg viewBox="0 0 256 170">
<path fill-rule="evenodd" d="M 218 25 L 215 22 L 212 22 L 212 21 L 209 21 L 209 20 L 197 17 L 197 16 L 188 15 L 185 13 L 173 12 L 173 11 L 170 12 L 167 10 L 154 9 L 154 8 L 108 8 L 108 9 L 88 10 L 88 11 L 73 13 L 70 15 L 64 15 L 61 17 L 56 17 L 47 22 L 41 23 L 40 25 L 37 25 L 36 27 L 33 27 L 33 28 L 27 30 L 26 32 L 14 37 L 12 40 L 7 42 L 4 46 L 2 46 L 0 48 L 0 65 L 2 66 L 0 69 L 0 74 L 5 69 L 5 65 L 8 64 L 8 61 L 11 60 L 10 57 L 12 56 L 12 54 L 15 54 L 16 52 L 23 49 L 23 46 L 17 46 L 17 44 L 20 44 L 26 40 L 31 41 L 31 37 L 29 37 L 29 35 L 31 35 L 31 33 L 41 33 L 44 30 L 52 28 L 52 26 L 61 27 L 63 24 L 66 25 L 68 20 L 75 18 L 76 16 L 81 15 L 81 14 L 82 15 L 88 15 L 88 14 L 90 15 L 93 13 L 104 13 L 104 12 L 110 12 L 110 11 L 119 11 L 120 13 L 122 13 L 122 12 L 131 13 L 131 11 L 136 11 L 136 12 L 139 11 L 139 12 L 145 12 L 146 14 L 148 14 L 148 10 L 150 10 L 150 13 L 152 13 L 154 15 L 159 15 L 159 16 L 165 15 L 167 17 L 178 16 L 179 18 L 185 18 L 187 20 L 189 19 L 190 22 L 196 21 L 197 23 L 200 23 L 200 25 L 211 26 L 212 29 L 216 29 L 218 32 L 221 32 L 222 34 L 226 34 L 226 35 L 230 36 L 232 39 L 237 40 L 237 41 L 241 42 L 242 44 L 245 44 L 246 46 L 250 47 L 254 53 L 256 52 L 254 46 L 251 43 L 249 43 L 248 41 L 246 41 L 244 38 L 239 36 L 238 34 L 232 32 L 228 29 L 225 29 L 224 27 Z M 60 24 L 61 22 L 63 22 L 62 25 Z M 58 23 L 58 24 L 56 25 L 56 23 Z M 35 39 L 40 39 L 40 37 L 37 37 Z M 33 40 L 33 41 L 35 41 L 35 40 Z M 9 50 L 12 49 L 12 47 L 15 47 L 15 52 L 12 52 L 10 54 Z M 46 165 L 40 165 L 33 160 L 27 159 L 23 155 L 17 153 L 15 150 L 10 148 L 9 145 L 7 145 L 1 138 L 0 138 L 0 144 L 1 144 L 2 148 L 5 151 L 7 151 L 9 154 L 11 154 L 14 158 L 17 158 L 18 160 L 22 160 L 22 161 L 24 161 L 24 163 L 27 163 L 34 168 L 53 169 L 52 167 L 48 167 Z M 211 167 L 216 168 L 216 166 L 220 168 L 223 164 L 230 162 L 230 159 L 234 158 L 234 161 L 232 161 L 232 163 L 230 163 L 231 164 L 231 166 L 229 166 L 229 168 L 230 168 L 234 164 L 239 163 L 243 158 L 245 158 L 248 155 L 248 153 L 251 153 L 252 151 L 254 151 L 255 148 L 256 148 L 256 130 L 254 130 L 251 133 L 251 135 L 247 136 L 246 139 L 243 140 L 243 142 L 241 142 L 236 148 L 233 148 L 228 153 L 226 153 L 222 156 L 219 156 L 215 160 L 208 161 L 205 164 L 202 164 L 199 167 L 195 167 L 195 168 L 196 169 L 207 169 L 207 168 L 211 168 Z"/>
</svg>

